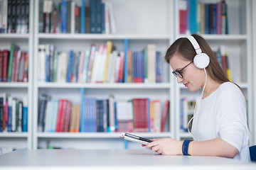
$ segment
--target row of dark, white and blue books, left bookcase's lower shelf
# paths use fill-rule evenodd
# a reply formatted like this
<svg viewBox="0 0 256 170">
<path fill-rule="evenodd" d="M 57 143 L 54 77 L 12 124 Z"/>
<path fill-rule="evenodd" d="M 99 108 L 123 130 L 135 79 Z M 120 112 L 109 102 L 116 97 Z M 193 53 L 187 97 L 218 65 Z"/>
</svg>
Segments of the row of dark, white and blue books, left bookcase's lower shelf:
<svg viewBox="0 0 256 170">
<path fill-rule="evenodd" d="M 28 132 L 28 98 L 22 100 L 2 94 L 0 97 L 0 132 Z"/>
</svg>

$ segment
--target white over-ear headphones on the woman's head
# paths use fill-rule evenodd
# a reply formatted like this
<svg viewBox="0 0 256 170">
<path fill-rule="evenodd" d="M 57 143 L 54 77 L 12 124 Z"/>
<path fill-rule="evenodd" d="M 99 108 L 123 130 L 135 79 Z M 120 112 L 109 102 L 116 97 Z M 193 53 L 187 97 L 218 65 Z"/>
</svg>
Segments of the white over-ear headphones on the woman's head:
<svg viewBox="0 0 256 170">
<path fill-rule="evenodd" d="M 195 64 L 198 69 L 204 69 L 208 67 L 208 64 L 210 63 L 210 57 L 206 55 L 206 53 L 202 52 L 201 47 L 198 45 L 198 42 L 195 38 L 193 38 L 192 35 L 188 35 L 187 38 L 196 50 L 196 56 L 193 58 L 193 64 Z"/>
</svg>

